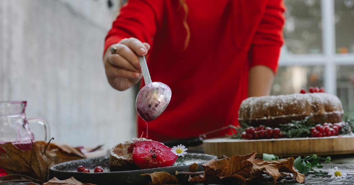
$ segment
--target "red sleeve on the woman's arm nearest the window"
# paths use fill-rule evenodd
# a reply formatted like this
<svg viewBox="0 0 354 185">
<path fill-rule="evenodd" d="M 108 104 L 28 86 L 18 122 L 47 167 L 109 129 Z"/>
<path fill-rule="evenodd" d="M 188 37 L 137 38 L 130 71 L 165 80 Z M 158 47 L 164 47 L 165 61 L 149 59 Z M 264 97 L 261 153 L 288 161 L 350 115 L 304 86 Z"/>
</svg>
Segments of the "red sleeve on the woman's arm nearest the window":
<svg viewBox="0 0 354 185">
<path fill-rule="evenodd" d="M 268 1 L 250 48 L 250 68 L 264 65 L 276 73 L 280 47 L 283 44 L 284 10 L 282 0 Z"/>
</svg>

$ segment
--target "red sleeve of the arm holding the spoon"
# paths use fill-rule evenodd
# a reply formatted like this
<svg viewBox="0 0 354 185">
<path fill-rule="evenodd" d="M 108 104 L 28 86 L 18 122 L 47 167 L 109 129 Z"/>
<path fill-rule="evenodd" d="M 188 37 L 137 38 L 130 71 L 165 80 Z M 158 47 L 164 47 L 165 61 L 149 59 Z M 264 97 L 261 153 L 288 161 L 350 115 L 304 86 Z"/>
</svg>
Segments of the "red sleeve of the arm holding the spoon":
<svg viewBox="0 0 354 185">
<path fill-rule="evenodd" d="M 124 38 L 134 37 L 152 45 L 162 20 L 163 0 L 129 0 L 122 6 L 104 43 L 104 50 Z"/>
</svg>

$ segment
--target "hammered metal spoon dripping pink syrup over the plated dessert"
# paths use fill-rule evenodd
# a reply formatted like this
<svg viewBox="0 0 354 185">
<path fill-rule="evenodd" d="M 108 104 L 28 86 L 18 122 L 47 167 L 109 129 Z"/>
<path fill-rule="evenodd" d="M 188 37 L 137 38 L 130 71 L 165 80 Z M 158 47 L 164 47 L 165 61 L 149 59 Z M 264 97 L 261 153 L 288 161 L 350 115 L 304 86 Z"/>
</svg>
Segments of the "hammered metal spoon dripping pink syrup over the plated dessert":
<svg viewBox="0 0 354 185">
<path fill-rule="evenodd" d="M 139 116 L 149 122 L 160 116 L 165 111 L 171 100 L 171 89 L 164 83 L 151 82 L 145 56 L 139 57 L 141 71 L 145 86 L 138 92 L 135 101 L 135 108 Z"/>
</svg>

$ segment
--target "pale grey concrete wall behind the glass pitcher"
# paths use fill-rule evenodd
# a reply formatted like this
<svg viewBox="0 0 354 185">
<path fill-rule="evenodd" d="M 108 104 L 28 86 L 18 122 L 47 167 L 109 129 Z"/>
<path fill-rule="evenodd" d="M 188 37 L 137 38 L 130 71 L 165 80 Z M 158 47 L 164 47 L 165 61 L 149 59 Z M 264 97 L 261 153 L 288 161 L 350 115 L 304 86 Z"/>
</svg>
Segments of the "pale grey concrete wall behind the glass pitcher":
<svg viewBox="0 0 354 185">
<path fill-rule="evenodd" d="M 134 91 L 111 88 L 102 64 L 112 2 L 0 1 L 0 101 L 27 100 L 55 142 L 110 148 L 136 134 Z"/>
</svg>

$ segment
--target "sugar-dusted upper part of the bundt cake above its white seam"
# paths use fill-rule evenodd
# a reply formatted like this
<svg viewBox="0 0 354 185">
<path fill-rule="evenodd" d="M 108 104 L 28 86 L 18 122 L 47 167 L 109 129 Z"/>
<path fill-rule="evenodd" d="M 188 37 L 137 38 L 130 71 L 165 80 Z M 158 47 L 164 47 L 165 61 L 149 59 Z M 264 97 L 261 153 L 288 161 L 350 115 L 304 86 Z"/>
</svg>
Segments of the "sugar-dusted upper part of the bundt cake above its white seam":
<svg viewBox="0 0 354 185">
<path fill-rule="evenodd" d="M 299 115 L 343 114 L 339 98 L 329 93 L 250 97 L 242 101 L 239 120 L 263 120 Z"/>
</svg>

